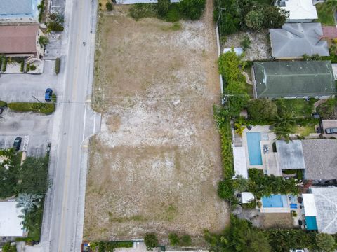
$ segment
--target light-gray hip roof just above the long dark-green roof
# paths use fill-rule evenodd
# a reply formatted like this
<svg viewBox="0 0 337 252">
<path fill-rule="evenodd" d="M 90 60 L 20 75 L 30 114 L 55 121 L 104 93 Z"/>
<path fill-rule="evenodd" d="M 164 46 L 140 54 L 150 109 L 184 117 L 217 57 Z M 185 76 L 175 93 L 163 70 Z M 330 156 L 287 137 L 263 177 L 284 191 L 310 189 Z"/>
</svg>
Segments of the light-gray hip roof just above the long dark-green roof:
<svg viewBox="0 0 337 252">
<path fill-rule="evenodd" d="M 328 43 L 321 40 L 323 31 L 320 23 L 286 23 L 282 29 L 269 31 L 273 57 L 329 56 Z"/>
</svg>

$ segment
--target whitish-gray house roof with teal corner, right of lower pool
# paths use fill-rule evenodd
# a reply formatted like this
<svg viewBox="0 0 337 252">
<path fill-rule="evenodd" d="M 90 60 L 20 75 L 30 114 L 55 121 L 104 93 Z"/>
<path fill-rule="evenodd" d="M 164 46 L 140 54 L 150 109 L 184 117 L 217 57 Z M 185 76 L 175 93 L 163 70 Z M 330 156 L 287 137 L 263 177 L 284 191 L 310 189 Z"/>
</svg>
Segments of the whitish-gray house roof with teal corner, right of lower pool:
<svg viewBox="0 0 337 252">
<path fill-rule="evenodd" d="M 337 232 L 337 188 L 312 187 L 303 193 L 305 228 L 327 234 Z"/>
</svg>

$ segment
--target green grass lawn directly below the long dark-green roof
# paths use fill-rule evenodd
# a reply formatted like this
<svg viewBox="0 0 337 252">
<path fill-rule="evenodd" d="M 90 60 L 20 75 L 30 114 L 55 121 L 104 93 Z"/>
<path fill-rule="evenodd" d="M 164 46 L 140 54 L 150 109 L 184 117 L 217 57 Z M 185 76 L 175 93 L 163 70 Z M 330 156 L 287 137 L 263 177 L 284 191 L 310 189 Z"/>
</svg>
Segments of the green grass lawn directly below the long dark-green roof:
<svg viewBox="0 0 337 252">
<path fill-rule="evenodd" d="M 311 118 L 316 99 L 276 99 L 279 116 L 292 118 Z"/>
</svg>

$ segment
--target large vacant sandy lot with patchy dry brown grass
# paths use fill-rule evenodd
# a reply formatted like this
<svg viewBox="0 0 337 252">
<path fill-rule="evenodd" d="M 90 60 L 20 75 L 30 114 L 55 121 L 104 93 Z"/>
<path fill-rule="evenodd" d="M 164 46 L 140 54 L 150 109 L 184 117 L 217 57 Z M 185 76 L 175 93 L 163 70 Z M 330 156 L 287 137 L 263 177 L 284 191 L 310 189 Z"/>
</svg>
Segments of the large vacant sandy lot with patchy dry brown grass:
<svg viewBox="0 0 337 252">
<path fill-rule="evenodd" d="M 202 21 L 180 22 L 180 29 L 136 22 L 121 7 L 101 15 L 93 103 L 103 123 L 91 140 L 84 239 L 156 232 L 166 241 L 178 232 L 202 242 L 205 228 L 228 223 L 216 194 L 222 169 L 212 12 L 209 3 Z"/>
</svg>

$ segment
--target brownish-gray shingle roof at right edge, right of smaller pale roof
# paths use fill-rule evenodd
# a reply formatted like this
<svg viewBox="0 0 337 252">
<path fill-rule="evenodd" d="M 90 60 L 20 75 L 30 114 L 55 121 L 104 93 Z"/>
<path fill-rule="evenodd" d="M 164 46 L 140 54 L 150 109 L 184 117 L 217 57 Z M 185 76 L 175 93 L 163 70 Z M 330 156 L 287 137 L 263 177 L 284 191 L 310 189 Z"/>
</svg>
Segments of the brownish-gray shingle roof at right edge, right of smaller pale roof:
<svg viewBox="0 0 337 252">
<path fill-rule="evenodd" d="M 302 141 L 305 179 L 337 179 L 337 140 Z"/>
</svg>

